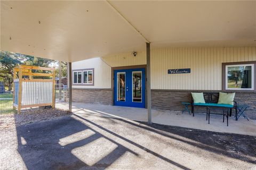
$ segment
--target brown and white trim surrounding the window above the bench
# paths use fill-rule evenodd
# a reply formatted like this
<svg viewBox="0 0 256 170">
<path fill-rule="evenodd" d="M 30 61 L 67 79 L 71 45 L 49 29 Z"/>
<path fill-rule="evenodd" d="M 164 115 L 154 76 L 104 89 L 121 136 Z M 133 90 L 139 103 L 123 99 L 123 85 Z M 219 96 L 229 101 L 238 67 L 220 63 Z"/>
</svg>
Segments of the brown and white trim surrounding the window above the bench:
<svg viewBox="0 0 256 170">
<path fill-rule="evenodd" d="M 233 89 L 226 88 L 227 84 L 227 66 L 237 66 L 237 65 L 252 65 L 252 88 L 251 89 Z M 230 62 L 230 63 L 222 63 L 222 91 L 234 91 L 234 92 L 256 92 L 256 61 L 249 62 Z"/>
</svg>

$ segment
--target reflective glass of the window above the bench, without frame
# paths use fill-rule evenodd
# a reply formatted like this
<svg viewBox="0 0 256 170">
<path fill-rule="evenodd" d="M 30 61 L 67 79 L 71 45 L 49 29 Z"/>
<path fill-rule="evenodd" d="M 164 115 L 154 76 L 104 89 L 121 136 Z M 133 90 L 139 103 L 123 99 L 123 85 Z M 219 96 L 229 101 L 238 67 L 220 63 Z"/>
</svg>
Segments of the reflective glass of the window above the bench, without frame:
<svg viewBox="0 0 256 170">
<path fill-rule="evenodd" d="M 252 66 L 251 65 L 228 66 L 228 88 L 251 89 L 252 88 Z"/>
</svg>

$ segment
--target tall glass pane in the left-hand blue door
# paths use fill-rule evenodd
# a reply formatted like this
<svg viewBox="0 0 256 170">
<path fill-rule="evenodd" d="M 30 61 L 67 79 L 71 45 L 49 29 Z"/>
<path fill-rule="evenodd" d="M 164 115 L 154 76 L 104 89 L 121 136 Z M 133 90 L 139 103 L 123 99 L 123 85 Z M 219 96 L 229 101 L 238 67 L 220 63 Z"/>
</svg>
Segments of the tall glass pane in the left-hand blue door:
<svg viewBox="0 0 256 170">
<path fill-rule="evenodd" d="M 125 73 L 117 73 L 117 101 L 125 101 Z"/>
</svg>

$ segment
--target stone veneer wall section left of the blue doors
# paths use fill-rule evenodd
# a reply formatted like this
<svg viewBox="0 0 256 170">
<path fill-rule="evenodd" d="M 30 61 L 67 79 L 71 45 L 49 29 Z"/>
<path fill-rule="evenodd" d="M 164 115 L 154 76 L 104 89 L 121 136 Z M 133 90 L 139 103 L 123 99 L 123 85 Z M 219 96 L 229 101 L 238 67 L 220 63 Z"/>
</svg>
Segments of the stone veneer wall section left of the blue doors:
<svg viewBox="0 0 256 170">
<path fill-rule="evenodd" d="M 72 101 L 112 105 L 112 89 L 72 89 Z"/>
</svg>

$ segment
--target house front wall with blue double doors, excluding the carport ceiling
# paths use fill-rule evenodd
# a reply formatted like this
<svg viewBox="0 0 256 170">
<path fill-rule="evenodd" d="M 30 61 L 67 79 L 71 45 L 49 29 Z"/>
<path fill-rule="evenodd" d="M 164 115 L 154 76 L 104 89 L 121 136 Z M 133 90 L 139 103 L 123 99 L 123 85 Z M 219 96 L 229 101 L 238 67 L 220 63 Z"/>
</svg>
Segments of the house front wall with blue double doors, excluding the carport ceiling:
<svg viewBox="0 0 256 170">
<path fill-rule="evenodd" d="M 73 101 L 147 107 L 146 52 L 136 53 L 72 63 Z M 194 91 L 236 92 L 256 118 L 256 47 L 155 48 L 150 55 L 152 108 L 181 111 Z"/>
</svg>

